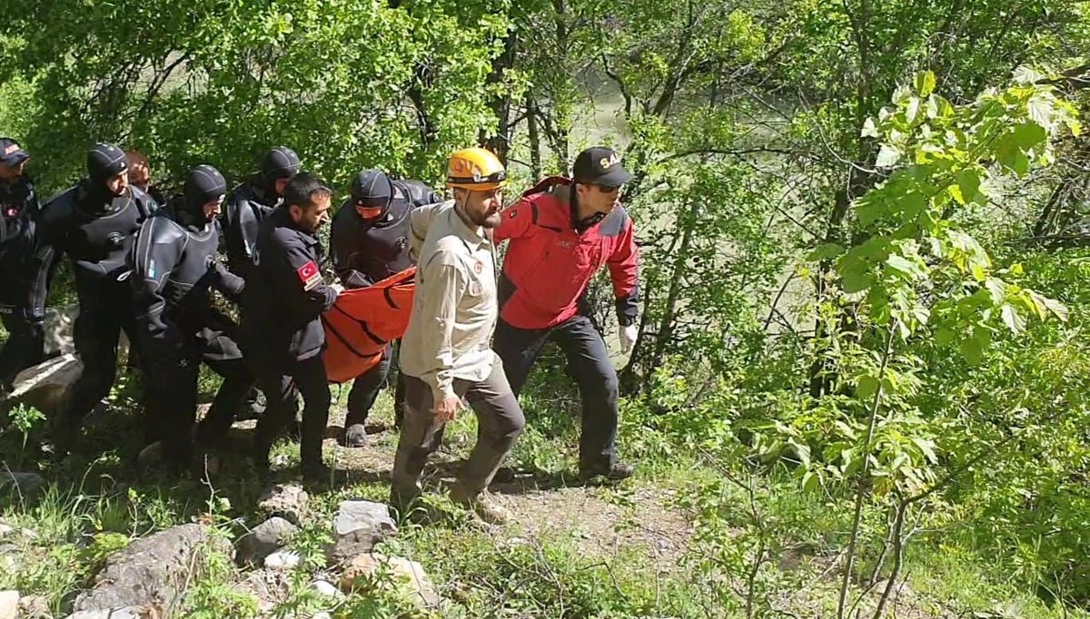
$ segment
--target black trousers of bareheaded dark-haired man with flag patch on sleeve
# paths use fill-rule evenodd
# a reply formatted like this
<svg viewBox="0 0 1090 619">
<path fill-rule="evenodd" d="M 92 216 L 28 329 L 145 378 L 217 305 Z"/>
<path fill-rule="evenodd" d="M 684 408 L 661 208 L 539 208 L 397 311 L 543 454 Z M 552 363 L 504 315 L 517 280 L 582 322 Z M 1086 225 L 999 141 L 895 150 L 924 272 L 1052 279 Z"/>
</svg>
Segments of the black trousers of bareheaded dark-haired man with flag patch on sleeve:
<svg viewBox="0 0 1090 619">
<path fill-rule="evenodd" d="M 275 364 L 255 360 L 257 386 L 265 393 L 265 413 L 257 421 L 254 456 L 268 463 L 272 444 L 295 416 L 296 390 L 303 397 L 303 428 L 300 459 L 303 473 L 322 466 L 322 441 L 329 422 L 329 383 L 320 354 L 304 361 Z"/>
</svg>

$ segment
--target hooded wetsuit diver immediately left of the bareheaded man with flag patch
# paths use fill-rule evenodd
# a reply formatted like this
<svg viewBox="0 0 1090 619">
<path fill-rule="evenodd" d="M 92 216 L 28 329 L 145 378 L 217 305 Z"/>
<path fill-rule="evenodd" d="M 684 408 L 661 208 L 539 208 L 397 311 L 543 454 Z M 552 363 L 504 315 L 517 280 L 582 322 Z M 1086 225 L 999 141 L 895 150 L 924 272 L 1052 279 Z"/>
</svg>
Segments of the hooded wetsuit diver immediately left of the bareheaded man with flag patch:
<svg viewBox="0 0 1090 619">
<path fill-rule="evenodd" d="M 254 379 L 235 340 L 237 325 L 213 306 L 210 289 L 238 302 L 244 281 L 216 259 L 217 220 L 227 183 L 211 166 L 197 166 L 174 196 L 141 227 L 129 254 L 133 305 L 146 355 L 148 442 L 162 440 L 175 472 L 222 438 Z M 201 363 L 223 377 L 193 436 Z"/>
</svg>

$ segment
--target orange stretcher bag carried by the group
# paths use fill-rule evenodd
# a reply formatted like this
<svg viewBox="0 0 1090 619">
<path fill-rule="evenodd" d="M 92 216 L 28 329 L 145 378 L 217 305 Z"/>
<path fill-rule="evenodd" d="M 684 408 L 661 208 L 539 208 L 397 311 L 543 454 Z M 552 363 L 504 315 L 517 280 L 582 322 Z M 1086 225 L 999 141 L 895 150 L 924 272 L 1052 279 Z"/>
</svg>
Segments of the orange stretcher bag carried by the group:
<svg viewBox="0 0 1090 619">
<path fill-rule="evenodd" d="M 416 267 L 367 288 L 346 290 L 322 315 L 323 361 L 330 383 L 347 383 L 383 360 L 386 345 L 404 335 L 412 313 Z"/>
</svg>

